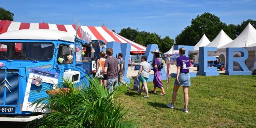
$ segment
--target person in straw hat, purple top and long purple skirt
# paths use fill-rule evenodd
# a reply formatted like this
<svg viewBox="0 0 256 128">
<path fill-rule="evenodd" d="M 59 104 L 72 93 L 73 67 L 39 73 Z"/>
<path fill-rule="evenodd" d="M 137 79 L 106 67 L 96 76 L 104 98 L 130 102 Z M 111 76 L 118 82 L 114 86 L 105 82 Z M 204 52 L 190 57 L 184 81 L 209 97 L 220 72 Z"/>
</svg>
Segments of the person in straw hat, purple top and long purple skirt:
<svg viewBox="0 0 256 128">
<path fill-rule="evenodd" d="M 161 80 L 161 59 L 160 59 L 160 52 L 158 52 L 157 49 L 154 50 L 154 52 L 151 52 L 154 54 L 154 60 L 153 60 L 153 71 L 154 71 L 154 79 L 153 79 L 153 83 L 154 83 L 154 90 L 152 91 L 152 93 L 156 93 L 156 87 L 160 88 L 162 90 L 161 95 L 165 95 L 165 90 L 163 89 L 163 83 Z"/>
</svg>

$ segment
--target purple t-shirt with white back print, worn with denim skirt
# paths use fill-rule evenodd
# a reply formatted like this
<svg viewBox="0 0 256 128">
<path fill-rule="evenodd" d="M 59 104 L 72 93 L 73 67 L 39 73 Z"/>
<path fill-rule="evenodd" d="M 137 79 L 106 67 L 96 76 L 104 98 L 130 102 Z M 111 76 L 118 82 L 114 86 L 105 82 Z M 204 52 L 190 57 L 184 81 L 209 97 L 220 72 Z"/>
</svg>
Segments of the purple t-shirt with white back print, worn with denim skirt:
<svg viewBox="0 0 256 128">
<path fill-rule="evenodd" d="M 188 73 L 189 72 L 189 64 L 190 61 L 188 59 L 188 57 L 186 56 L 180 56 L 177 58 L 177 66 L 181 67 L 181 71 L 182 73 Z"/>
</svg>

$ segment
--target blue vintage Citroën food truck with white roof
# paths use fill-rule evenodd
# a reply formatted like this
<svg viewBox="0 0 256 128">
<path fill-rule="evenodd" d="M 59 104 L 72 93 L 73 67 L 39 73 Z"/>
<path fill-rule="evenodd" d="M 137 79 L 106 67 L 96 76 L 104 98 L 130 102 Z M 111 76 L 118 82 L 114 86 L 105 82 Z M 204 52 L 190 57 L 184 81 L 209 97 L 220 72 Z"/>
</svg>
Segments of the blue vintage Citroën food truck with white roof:
<svg viewBox="0 0 256 128">
<path fill-rule="evenodd" d="M 54 89 L 63 82 L 62 77 L 70 77 L 77 87 L 88 86 L 92 61 L 105 44 L 91 41 L 88 33 L 80 31 L 81 38 L 48 29 L 0 34 L 0 121 L 28 122 L 43 117 L 32 116 L 30 104 L 47 97 L 45 88 Z"/>
</svg>

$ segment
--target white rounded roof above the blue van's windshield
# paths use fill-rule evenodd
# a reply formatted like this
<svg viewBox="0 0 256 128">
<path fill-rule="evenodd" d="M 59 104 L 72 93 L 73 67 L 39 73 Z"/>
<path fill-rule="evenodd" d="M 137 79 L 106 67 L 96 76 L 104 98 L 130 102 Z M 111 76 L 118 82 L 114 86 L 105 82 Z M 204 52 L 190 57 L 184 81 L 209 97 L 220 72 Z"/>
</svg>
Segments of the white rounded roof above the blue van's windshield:
<svg viewBox="0 0 256 128">
<path fill-rule="evenodd" d="M 49 29 L 22 29 L 0 34 L 0 39 L 75 41 L 75 35 Z"/>
</svg>

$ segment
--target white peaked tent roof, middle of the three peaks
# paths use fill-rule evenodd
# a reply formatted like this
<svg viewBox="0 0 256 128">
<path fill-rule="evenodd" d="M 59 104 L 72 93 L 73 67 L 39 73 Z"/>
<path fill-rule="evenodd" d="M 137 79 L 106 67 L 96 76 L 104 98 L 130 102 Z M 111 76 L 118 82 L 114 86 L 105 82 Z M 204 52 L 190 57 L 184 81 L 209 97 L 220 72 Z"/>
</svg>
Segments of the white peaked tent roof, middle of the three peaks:
<svg viewBox="0 0 256 128">
<path fill-rule="evenodd" d="M 232 39 L 230 39 L 228 37 L 228 35 L 223 31 L 221 30 L 218 35 L 214 38 L 214 40 L 209 43 L 208 45 L 206 45 L 207 47 L 221 47 L 223 45 L 226 45 L 228 44 L 229 42 L 233 41 Z"/>
</svg>

